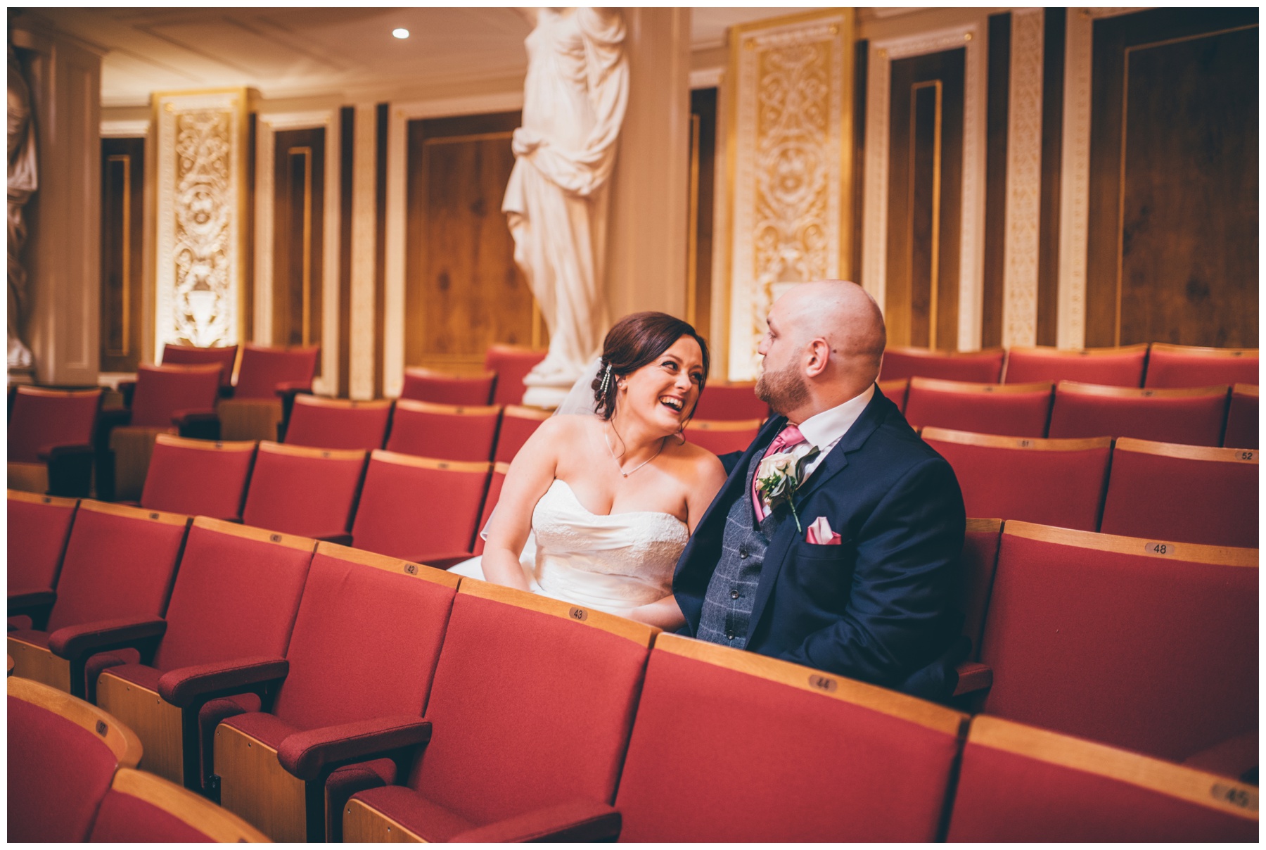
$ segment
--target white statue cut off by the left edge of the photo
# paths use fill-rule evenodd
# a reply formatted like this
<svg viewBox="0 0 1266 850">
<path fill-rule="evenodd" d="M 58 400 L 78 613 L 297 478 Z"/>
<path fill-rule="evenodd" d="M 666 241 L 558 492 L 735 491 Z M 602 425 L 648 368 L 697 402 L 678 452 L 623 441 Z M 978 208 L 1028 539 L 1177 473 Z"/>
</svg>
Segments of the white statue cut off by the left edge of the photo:
<svg viewBox="0 0 1266 850">
<path fill-rule="evenodd" d="M 35 127 L 32 123 L 30 90 L 22 66 L 9 46 L 9 369 L 32 365 L 30 348 L 22 341 L 22 324 L 29 303 L 22 246 L 27 242 L 23 206 L 35 193 Z"/>
</svg>

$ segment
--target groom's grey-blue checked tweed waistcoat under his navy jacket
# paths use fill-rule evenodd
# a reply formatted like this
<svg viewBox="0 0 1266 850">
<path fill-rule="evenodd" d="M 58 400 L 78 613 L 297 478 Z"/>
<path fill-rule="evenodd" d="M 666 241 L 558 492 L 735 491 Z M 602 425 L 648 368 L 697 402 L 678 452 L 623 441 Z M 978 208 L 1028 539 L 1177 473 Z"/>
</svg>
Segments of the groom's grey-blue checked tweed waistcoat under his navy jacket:
<svg viewBox="0 0 1266 850">
<path fill-rule="evenodd" d="M 739 650 L 747 647 L 747 640 L 756 625 L 751 622 L 752 607 L 756 604 L 756 588 L 761 581 L 761 568 L 765 565 L 765 550 L 768 549 L 770 537 L 781 522 L 775 516 L 779 512 L 771 511 L 765 514 L 760 524 L 756 523 L 756 511 L 752 508 L 752 476 L 763 454 L 757 452 L 752 456 L 743 493 L 734 499 L 725 516 L 720 557 L 708 583 L 699 617 L 699 640 Z"/>
</svg>

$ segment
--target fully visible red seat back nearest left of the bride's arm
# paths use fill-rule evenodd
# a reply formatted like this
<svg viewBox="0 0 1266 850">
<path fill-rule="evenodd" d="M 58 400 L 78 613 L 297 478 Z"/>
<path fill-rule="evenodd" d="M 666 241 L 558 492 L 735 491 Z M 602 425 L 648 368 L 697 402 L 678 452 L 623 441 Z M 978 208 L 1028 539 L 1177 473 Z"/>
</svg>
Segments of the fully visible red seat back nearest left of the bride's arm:
<svg viewBox="0 0 1266 850">
<path fill-rule="evenodd" d="M 352 545 L 439 568 L 472 557 L 471 541 L 491 467 L 373 452 Z"/>
</svg>

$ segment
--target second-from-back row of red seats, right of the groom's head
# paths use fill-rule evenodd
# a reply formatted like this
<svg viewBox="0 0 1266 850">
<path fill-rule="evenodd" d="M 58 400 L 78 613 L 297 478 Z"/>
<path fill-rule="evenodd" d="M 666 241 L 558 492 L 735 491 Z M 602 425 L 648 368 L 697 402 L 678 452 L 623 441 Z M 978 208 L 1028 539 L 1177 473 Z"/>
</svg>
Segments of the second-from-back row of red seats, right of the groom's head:
<svg viewBox="0 0 1266 850">
<path fill-rule="evenodd" d="M 880 381 L 914 428 L 1008 437 L 1133 437 L 1257 448 L 1257 386 L 1133 389 L 1060 381 L 971 384 L 937 377 Z"/>
</svg>

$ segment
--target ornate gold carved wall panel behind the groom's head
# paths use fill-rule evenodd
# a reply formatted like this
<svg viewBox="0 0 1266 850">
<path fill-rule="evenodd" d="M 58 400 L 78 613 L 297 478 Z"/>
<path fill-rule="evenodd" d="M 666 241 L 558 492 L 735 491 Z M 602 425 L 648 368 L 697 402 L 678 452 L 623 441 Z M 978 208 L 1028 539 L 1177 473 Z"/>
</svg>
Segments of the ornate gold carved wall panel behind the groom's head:
<svg viewBox="0 0 1266 850">
<path fill-rule="evenodd" d="M 852 47 L 851 9 L 730 29 L 729 380 L 786 286 L 849 274 Z"/>
</svg>

